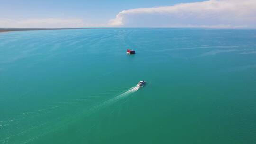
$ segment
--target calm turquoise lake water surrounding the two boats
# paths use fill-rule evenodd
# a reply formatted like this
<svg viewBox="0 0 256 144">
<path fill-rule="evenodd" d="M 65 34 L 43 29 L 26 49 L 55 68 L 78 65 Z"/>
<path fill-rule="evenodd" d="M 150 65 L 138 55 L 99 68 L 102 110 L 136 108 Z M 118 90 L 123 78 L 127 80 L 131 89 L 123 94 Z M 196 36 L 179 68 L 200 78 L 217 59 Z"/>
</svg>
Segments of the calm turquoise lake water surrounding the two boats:
<svg viewBox="0 0 256 144">
<path fill-rule="evenodd" d="M 0 144 L 255 143 L 256 30 L 0 33 Z"/>
</svg>

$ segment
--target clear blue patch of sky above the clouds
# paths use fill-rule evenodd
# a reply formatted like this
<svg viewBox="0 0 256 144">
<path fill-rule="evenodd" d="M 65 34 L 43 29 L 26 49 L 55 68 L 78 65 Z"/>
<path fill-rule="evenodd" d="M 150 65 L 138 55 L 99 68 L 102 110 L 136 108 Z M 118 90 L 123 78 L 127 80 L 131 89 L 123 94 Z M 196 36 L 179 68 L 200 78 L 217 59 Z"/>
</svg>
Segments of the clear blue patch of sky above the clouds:
<svg viewBox="0 0 256 144">
<path fill-rule="evenodd" d="M 0 18 L 68 17 L 103 23 L 122 10 L 195 1 L 200 0 L 1 0 Z"/>
</svg>

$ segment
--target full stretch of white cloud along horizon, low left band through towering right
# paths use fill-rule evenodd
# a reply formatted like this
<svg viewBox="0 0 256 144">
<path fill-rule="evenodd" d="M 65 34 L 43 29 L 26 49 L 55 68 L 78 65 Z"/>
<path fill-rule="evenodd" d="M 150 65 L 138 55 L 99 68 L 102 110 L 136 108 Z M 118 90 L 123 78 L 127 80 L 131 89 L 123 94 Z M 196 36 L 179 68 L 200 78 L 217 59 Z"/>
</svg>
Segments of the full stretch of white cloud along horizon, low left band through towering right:
<svg viewBox="0 0 256 144">
<path fill-rule="evenodd" d="M 256 0 L 209 0 L 119 12 L 108 24 L 82 18 L 0 19 L 4 28 L 66 27 L 256 27 Z"/>
</svg>

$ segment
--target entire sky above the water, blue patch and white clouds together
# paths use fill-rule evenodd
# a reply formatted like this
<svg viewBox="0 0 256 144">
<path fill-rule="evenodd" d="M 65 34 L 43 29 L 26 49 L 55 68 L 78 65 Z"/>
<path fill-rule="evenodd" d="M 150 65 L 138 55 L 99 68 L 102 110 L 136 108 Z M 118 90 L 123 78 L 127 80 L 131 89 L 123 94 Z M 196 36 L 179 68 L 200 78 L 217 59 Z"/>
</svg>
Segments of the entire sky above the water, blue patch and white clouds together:
<svg viewBox="0 0 256 144">
<path fill-rule="evenodd" d="M 253 21 L 256 19 L 253 15 L 256 11 L 253 9 L 256 0 L 220 0 L 224 1 L 222 3 L 211 1 L 0 0 L 0 27 L 255 27 Z M 248 5 L 251 8 L 247 10 L 245 7 Z M 212 7 L 215 11 L 211 10 Z M 231 9 L 233 7 L 235 8 Z M 237 13 L 236 9 L 242 10 Z M 123 12 L 124 10 L 126 11 Z M 201 16 L 201 13 L 205 15 Z M 243 15 L 236 18 L 241 13 Z M 231 15 L 235 19 L 225 21 L 223 15 L 227 18 Z M 211 21 L 212 18 L 217 18 L 217 21 Z"/>
</svg>

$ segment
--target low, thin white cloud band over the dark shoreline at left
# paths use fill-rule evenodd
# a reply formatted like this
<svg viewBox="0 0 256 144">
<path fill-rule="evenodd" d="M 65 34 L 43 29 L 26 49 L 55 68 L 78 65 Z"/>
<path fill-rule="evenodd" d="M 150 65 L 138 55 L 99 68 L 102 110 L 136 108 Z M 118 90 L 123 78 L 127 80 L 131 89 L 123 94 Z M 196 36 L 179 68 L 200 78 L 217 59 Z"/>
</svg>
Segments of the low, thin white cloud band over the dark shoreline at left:
<svg viewBox="0 0 256 144">
<path fill-rule="evenodd" d="M 37 18 L 37 19 L 0 19 L 0 27 L 4 28 L 78 28 L 104 27 L 85 23 L 81 18 Z"/>
</svg>

